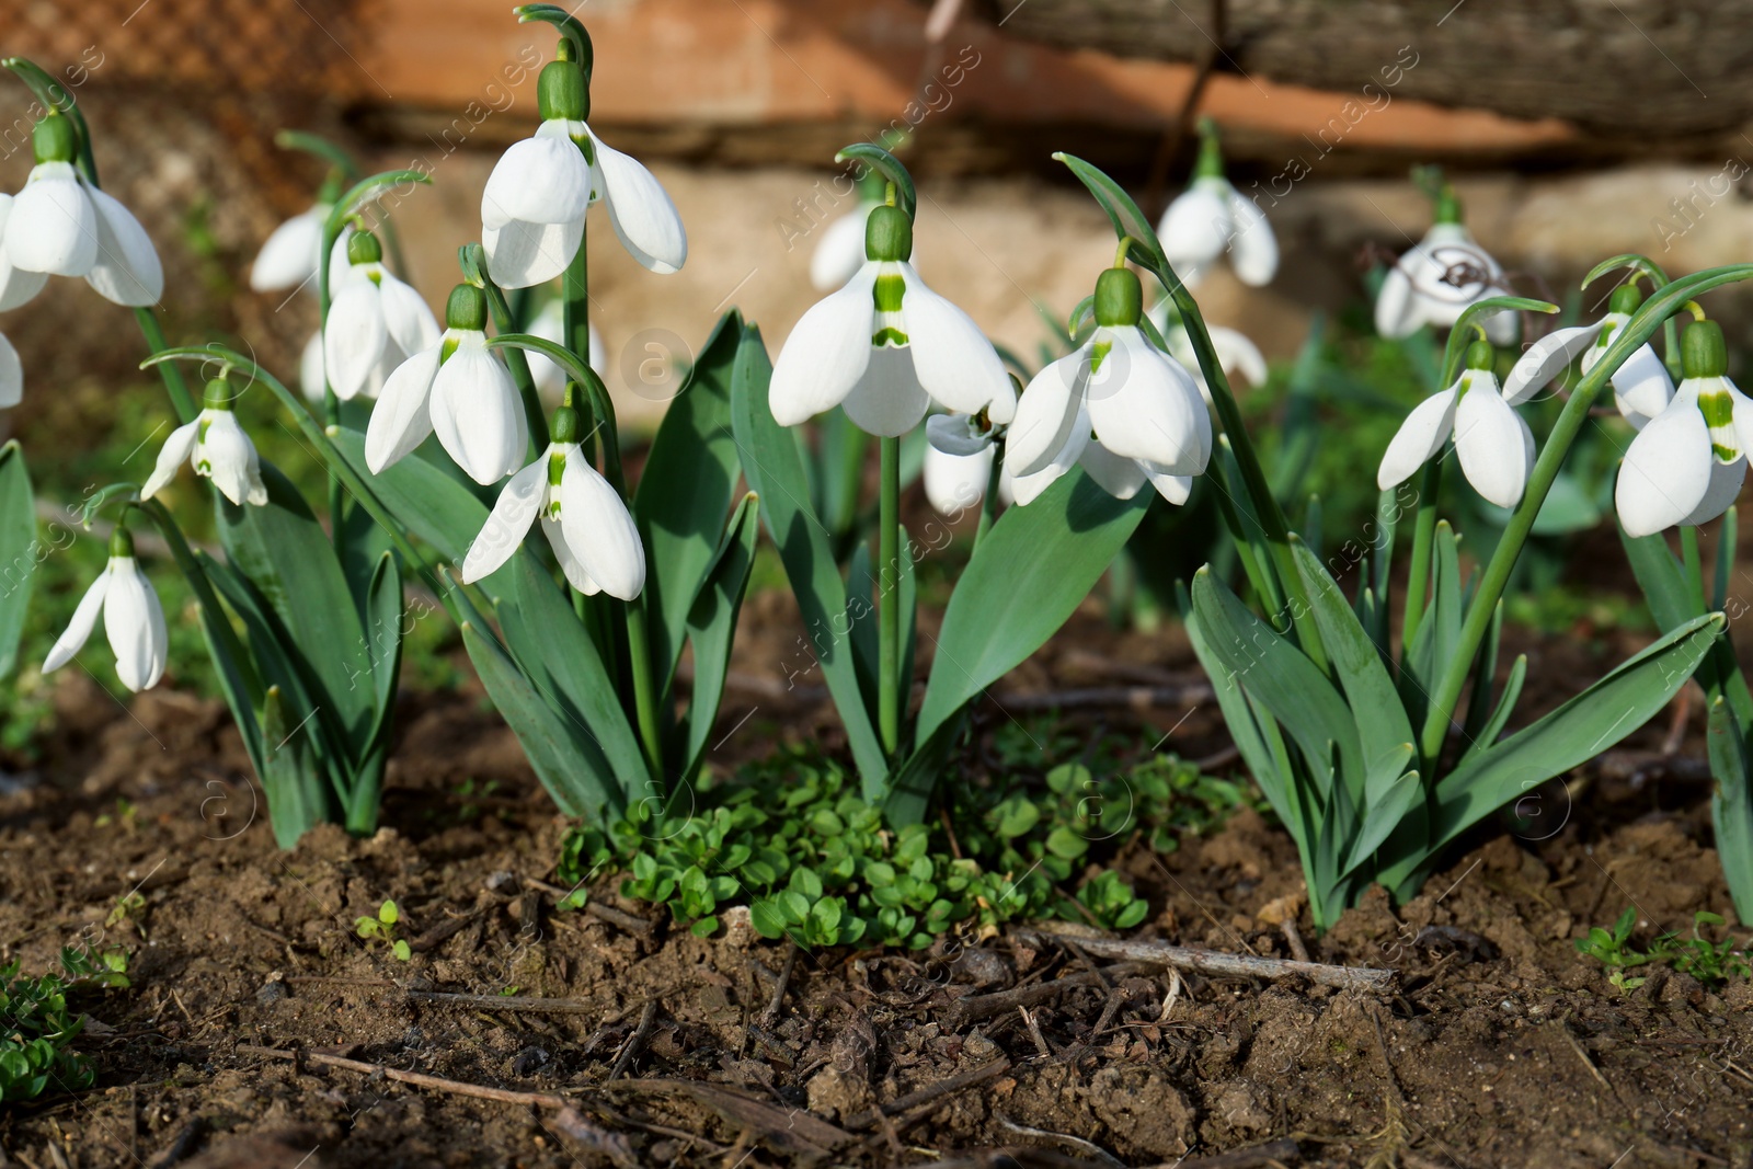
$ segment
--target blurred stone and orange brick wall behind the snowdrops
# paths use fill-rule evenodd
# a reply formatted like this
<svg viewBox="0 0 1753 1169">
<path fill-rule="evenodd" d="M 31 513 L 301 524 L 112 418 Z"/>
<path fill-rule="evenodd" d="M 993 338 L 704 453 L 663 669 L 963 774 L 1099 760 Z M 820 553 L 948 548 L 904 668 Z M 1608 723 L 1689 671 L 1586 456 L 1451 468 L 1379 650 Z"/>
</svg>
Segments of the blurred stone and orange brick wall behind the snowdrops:
<svg viewBox="0 0 1753 1169">
<path fill-rule="evenodd" d="M 1355 310 L 1362 270 L 1423 233 L 1429 210 L 1406 181 L 1415 161 L 1457 175 L 1476 237 L 1532 294 L 1562 300 L 1588 265 L 1623 251 L 1671 270 L 1753 251 L 1741 161 L 1753 138 L 1735 105 L 1749 95 L 1723 81 L 1746 77 L 1735 70 L 1753 21 L 1737 4 L 1714 5 L 1714 26 L 1688 5 L 1609 5 L 1629 25 L 1613 37 L 1588 35 L 1606 19 L 1592 5 L 1586 19 L 1555 7 L 1529 26 L 1544 5 L 1232 4 L 586 0 L 593 128 L 652 166 L 691 237 L 684 272 L 656 277 L 591 219 L 594 321 L 622 408 L 652 417 L 668 391 L 642 370 L 654 356 L 685 359 L 731 305 L 784 338 L 817 298 L 806 270 L 820 224 L 850 210 L 833 196 L 834 149 L 891 126 L 913 128 L 922 275 L 1024 352 L 1047 337 L 1036 307 L 1062 317 L 1113 251 L 1052 151 L 1103 165 L 1155 214 L 1192 165 L 1197 116 L 1222 124 L 1238 186 L 1271 193 L 1278 279 L 1243 289 L 1218 272 L 1199 291 L 1208 315 L 1267 356 L 1294 352 L 1315 312 Z M 536 124 L 535 74 L 552 42 L 545 25 L 486 0 L 0 9 L 0 51 L 75 91 L 105 184 L 158 240 L 172 273 L 167 331 L 233 338 L 287 375 L 314 301 L 249 293 L 247 265 L 309 205 L 323 168 L 279 151 L 273 131 L 333 137 L 372 170 L 431 174 L 394 219 L 412 280 L 440 307 L 456 245 L 479 238 L 487 172 Z M 1639 91 L 1648 102 L 1627 105 Z M 0 95 L 0 186 L 18 189 L 30 96 L 18 84 Z M 1525 116 L 1541 109 L 1569 116 Z M 0 329 L 33 387 L 88 387 L 33 389 L 26 412 L 89 401 L 93 377 L 128 379 L 137 361 L 119 310 L 60 284 Z"/>
</svg>

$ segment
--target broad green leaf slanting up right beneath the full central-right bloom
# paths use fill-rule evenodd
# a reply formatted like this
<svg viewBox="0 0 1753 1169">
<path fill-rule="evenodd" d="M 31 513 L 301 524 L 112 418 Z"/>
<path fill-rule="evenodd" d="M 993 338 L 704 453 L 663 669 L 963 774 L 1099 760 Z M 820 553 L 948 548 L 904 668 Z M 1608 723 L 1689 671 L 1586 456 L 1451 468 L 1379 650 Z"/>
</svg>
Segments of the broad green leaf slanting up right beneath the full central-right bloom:
<svg viewBox="0 0 1753 1169">
<path fill-rule="evenodd" d="M 1145 519 L 1150 498 L 1115 499 L 1076 468 L 992 524 L 943 612 L 915 743 L 1066 624 Z"/>
</svg>

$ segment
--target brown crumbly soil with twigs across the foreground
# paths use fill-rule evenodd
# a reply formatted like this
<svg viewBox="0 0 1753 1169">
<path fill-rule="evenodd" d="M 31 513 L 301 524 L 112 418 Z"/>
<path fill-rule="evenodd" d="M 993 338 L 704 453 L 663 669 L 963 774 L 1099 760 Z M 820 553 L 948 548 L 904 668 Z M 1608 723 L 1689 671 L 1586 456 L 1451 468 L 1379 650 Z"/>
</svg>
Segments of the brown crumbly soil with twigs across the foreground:
<svg viewBox="0 0 1753 1169">
<path fill-rule="evenodd" d="M 1078 620 L 1055 643 L 1078 648 L 1015 694 L 1076 689 L 1090 659 L 1196 687 L 1173 629 Z M 1593 677 L 1622 648 L 1553 643 L 1537 677 Z M 749 673 L 727 722 L 749 705 L 829 722 Z M 1657 973 L 1625 994 L 1571 945 L 1627 904 L 1643 939 L 1728 910 L 1699 769 L 1648 762 L 1664 726 L 1543 792 L 1520 836 L 1494 825 L 1409 904 L 1371 897 L 1318 939 L 1304 913 L 1317 962 L 1395 971 L 1373 992 L 1175 976 L 1020 931 L 789 959 L 735 922 L 694 938 L 612 882 L 594 911 L 557 913 L 564 824 L 466 691 L 405 701 L 394 829 L 280 854 L 219 705 L 151 692 L 130 713 L 82 678 L 60 694 L 51 754 L 0 796 L 0 960 L 51 969 L 65 943 L 119 943 L 133 987 L 81 1004 L 96 1087 L 0 1113 L 0 1164 L 1753 1165 L 1753 983 Z M 1076 717 L 1182 715 L 1110 696 Z M 1201 708 L 1171 747 L 1217 734 Z M 1253 813 L 1115 864 L 1153 911 L 1134 936 L 1292 955 L 1271 922 L 1295 906 L 1295 852 Z M 410 962 L 354 936 L 386 897 Z"/>
</svg>

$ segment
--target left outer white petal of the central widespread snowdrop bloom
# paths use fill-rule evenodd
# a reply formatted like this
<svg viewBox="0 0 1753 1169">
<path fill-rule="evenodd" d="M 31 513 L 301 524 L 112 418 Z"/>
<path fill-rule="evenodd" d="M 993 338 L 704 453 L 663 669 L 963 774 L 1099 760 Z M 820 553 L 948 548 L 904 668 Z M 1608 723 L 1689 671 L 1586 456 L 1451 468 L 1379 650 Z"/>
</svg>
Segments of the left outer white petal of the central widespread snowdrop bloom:
<svg viewBox="0 0 1753 1169">
<path fill-rule="evenodd" d="M 833 410 L 864 375 L 876 321 L 871 300 L 876 268 L 875 261 L 866 263 L 843 289 L 815 301 L 792 326 L 768 387 L 768 405 L 780 426 Z"/>
</svg>

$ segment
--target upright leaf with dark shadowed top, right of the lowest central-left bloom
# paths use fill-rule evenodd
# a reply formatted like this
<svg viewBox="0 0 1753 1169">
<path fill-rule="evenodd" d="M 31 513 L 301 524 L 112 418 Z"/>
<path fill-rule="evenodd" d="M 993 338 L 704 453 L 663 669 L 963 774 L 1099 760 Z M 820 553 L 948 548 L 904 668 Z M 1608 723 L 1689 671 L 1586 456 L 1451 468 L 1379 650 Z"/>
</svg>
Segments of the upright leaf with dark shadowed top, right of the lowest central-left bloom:
<svg viewBox="0 0 1753 1169">
<path fill-rule="evenodd" d="M 687 615 L 719 552 L 736 489 L 731 370 L 743 322 L 727 312 L 712 329 L 652 440 L 633 519 L 645 540 L 645 610 L 659 689 L 682 657 Z"/>
</svg>

